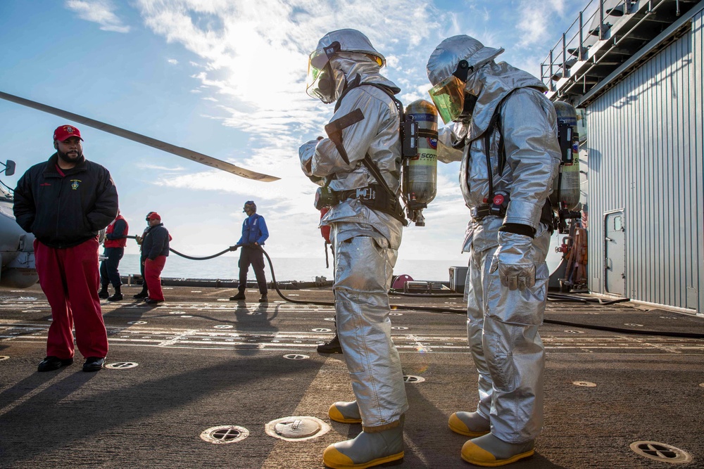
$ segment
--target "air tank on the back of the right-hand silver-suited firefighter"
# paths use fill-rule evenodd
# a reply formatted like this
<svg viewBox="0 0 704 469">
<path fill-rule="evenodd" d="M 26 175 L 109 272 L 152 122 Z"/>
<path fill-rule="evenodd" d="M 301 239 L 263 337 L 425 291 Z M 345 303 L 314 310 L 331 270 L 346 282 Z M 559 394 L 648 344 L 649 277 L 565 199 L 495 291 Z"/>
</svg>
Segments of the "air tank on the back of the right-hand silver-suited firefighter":
<svg viewBox="0 0 704 469">
<path fill-rule="evenodd" d="M 560 172 L 553 183 L 550 201 L 554 210 L 574 210 L 579 205 L 579 134 L 577 111 L 562 101 L 553 102 L 558 116 L 558 141 L 560 143 Z"/>
</svg>

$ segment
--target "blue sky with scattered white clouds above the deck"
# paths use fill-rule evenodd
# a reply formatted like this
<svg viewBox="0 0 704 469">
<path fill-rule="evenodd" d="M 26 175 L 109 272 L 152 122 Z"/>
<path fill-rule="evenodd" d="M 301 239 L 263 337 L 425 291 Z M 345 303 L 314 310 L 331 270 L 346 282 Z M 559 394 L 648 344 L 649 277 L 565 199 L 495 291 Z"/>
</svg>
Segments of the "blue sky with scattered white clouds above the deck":
<svg viewBox="0 0 704 469">
<path fill-rule="evenodd" d="M 279 176 L 263 183 L 220 172 L 90 127 L 84 154 L 107 167 L 132 234 L 159 212 L 189 255 L 210 255 L 240 235 L 246 200 L 267 220 L 272 257 L 322 259 L 315 187 L 298 146 L 322 134 L 333 112 L 305 93 L 308 53 L 330 30 L 356 28 L 386 56 L 382 73 L 401 101 L 427 99 L 427 58 L 439 42 L 470 34 L 503 47 L 499 60 L 539 75 L 540 63 L 585 1 L 1 0 L 0 91 L 108 122 L 235 165 Z M 0 100 L 8 186 L 54 152 L 70 123 Z M 426 226 L 409 226 L 399 255 L 460 255 L 469 210 L 458 164 L 439 165 Z M 128 244 L 128 253 L 137 245 Z"/>
</svg>

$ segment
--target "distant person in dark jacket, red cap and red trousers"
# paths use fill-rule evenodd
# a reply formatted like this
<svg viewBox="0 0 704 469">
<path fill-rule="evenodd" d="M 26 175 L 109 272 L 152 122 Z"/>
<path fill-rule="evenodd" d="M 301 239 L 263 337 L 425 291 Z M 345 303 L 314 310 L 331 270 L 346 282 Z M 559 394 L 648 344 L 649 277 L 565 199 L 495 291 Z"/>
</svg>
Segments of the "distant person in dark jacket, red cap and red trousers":
<svg viewBox="0 0 704 469">
<path fill-rule="evenodd" d="M 163 271 L 166 257 L 169 255 L 171 235 L 161 223 L 161 216 L 158 213 L 151 212 L 146 219 L 149 220 L 149 230 L 144 233 L 142 241 L 144 280 L 149 289 L 146 303 L 156 304 L 164 301 L 164 294 L 161 290 L 161 271 Z"/>
</svg>

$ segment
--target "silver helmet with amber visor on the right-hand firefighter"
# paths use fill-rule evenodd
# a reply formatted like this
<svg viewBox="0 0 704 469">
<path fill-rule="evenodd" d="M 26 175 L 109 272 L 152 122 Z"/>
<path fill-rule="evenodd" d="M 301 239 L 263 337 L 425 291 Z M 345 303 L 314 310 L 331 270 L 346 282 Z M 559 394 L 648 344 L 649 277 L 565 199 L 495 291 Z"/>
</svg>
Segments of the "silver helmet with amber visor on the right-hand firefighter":
<svg viewBox="0 0 704 469">
<path fill-rule="evenodd" d="M 428 93 L 446 124 L 468 117 L 477 96 L 466 96 L 467 80 L 501 53 L 501 48 L 485 47 L 473 37 L 460 35 L 448 37 L 430 54 L 427 73 L 433 88 Z M 470 103 L 465 103 L 465 97 Z"/>
</svg>

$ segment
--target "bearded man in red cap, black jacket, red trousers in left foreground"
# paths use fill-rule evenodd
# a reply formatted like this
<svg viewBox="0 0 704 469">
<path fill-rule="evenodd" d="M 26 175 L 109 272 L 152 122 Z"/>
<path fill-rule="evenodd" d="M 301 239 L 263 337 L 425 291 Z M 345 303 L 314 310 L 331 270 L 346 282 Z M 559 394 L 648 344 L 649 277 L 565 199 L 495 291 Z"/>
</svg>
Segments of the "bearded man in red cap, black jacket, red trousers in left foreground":
<svg viewBox="0 0 704 469">
<path fill-rule="evenodd" d="M 56 153 L 32 166 L 15 188 L 17 223 L 34 237 L 34 264 L 53 321 L 38 371 L 73 364 L 73 333 L 83 371 L 103 368 L 108 335 L 100 309 L 98 231 L 118 214 L 118 191 L 107 169 L 86 160 L 80 131 L 54 131 Z"/>
</svg>

